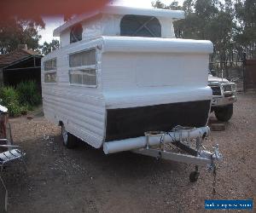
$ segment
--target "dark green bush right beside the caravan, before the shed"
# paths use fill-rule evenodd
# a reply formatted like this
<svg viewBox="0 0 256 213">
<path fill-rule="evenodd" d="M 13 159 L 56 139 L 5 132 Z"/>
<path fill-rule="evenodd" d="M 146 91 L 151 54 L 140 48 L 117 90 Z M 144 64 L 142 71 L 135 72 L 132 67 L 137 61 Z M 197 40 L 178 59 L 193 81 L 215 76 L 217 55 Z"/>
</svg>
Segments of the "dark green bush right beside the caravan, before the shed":
<svg viewBox="0 0 256 213">
<path fill-rule="evenodd" d="M 41 103 L 41 95 L 38 92 L 37 83 L 35 81 L 21 82 L 17 85 L 16 90 L 22 106 L 32 108 Z"/>
</svg>

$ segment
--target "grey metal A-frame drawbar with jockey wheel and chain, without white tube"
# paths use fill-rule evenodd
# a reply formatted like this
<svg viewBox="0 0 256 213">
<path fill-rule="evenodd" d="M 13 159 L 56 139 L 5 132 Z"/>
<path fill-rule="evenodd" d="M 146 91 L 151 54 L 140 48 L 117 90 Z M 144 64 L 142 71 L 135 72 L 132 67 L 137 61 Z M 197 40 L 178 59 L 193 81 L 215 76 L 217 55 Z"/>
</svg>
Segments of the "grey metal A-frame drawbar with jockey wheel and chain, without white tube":
<svg viewBox="0 0 256 213">
<path fill-rule="evenodd" d="M 195 164 L 195 171 L 191 172 L 189 175 L 189 180 L 191 182 L 195 182 L 198 179 L 198 176 L 200 175 L 198 171 L 198 166 L 199 165 L 207 165 L 207 168 L 209 170 L 213 171 L 213 193 L 215 193 L 215 183 L 216 183 L 216 164 L 215 160 L 220 160 L 222 158 L 221 153 L 219 153 L 218 150 L 218 144 L 216 144 L 213 147 L 212 152 L 209 152 L 205 149 L 205 147 L 202 146 L 202 141 L 205 139 L 205 137 L 209 134 L 203 134 L 203 135 L 198 135 L 195 138 L 195 148 L 191 147 L 191 138 L 186 138 L 186 140 L 183 140 L 183 133 L 184 131 L 189 131 L 191 129 L 188 128 L 180 128 L 179 130 L 175 130 L 176 133 L 173 134 L 172 142 L 171 145 L 178 147 L 180 150 L 183 151 L 183 153 L 174 153 L 172 151 L 169 151 L 170 149 L 166 150 L 166 142 L 165 142 L 165 137 L 166 135 L 169 135 L 172 137 L 171 133 L 166 133 L 166 132 L 146 132 L 146 147 L 133 150 L 133 153 L 139 153 L 151 157 L 155 157 L 158 159 L 166 159 L 166 160 L 172 160 L 180 163 L 186 163 L 186 164 Z M 178 139 L 175 134 L 178 132 Z M 190 132 L 191 133 L 191 132 Z M 153 148 L 150 147 L 150 137 L 152 136 L 160 136 L 160 147 L 159 148 Z"/>
</svg>

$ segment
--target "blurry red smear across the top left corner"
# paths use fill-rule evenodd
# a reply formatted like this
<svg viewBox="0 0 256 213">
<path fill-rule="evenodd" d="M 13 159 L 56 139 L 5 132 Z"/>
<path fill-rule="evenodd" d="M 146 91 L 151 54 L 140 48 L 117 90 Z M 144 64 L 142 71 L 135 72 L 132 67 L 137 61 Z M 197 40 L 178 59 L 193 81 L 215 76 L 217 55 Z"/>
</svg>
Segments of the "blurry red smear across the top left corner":
<svg viewBox="0 0 256 213">
<path fill-rule="evenodd" d="M 33 19 L 38 15 L 83 14 L 102 8 L 109 0 L 0 0 L 0 19 L 10 16 Z"/>
</svg>

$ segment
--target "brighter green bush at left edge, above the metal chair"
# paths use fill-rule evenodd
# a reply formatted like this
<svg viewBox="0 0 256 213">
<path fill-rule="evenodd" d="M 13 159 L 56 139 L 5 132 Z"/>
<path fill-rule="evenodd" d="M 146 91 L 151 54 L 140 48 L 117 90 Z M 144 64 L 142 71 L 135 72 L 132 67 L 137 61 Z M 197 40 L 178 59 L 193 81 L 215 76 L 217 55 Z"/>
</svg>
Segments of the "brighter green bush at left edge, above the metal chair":
<svg viewBox="0 0 256 213">
<path fill-rule="evenodd" d="M 13 87 L 3 87 L 0 89 L 1 105 L 8 108 L 10 116 L 19 116 L 21 113 L 19 97 Z"/>
</svg>

